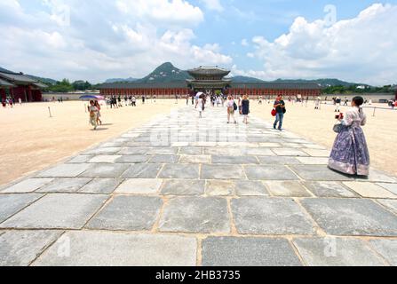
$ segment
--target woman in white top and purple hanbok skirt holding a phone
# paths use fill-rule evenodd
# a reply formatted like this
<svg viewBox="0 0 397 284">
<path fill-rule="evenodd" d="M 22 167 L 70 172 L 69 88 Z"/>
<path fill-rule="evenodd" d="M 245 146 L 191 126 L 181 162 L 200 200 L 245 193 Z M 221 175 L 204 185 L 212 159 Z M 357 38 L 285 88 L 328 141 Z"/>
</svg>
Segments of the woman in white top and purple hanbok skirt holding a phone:
<svg viewBox="0 0 397 284">
<path fill-rule="evenodd" d="M 330 154 L 329 167 L 348 175 L 369 176 L 369 151 L 361 126 L 367 122 L 361 106 L 364 99 L 355 97 L 343 119 Z"/>
</svg>

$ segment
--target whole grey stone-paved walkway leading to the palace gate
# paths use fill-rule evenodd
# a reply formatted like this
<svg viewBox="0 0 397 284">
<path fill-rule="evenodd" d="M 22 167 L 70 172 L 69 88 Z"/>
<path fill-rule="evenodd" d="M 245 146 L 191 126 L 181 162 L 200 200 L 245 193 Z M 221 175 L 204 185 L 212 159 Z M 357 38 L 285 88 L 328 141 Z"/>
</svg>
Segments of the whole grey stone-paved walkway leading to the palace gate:
<svg viewBox="0 0 397 284">
<path fill-rule="evenodd" d="M 329 154 L 180 108 L 4 186 L 0 265 L 397 265 L 396 177 Z"/>
</svg>

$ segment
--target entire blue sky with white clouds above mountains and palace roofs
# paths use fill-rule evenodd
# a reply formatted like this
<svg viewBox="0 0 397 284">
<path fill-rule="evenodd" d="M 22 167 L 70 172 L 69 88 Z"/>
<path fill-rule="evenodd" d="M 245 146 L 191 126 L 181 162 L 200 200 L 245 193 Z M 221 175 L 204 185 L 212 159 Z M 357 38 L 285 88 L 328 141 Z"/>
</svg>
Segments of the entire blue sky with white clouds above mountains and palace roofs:
<svg viewBox="0 0 397 284">
<path fill-rule="evenodd" d="M 397 0 L 0 0 L 0 67 L 97 83 L 171 61 L 381 85 L 397 83 L 394 27 Z"/>
</svg>

